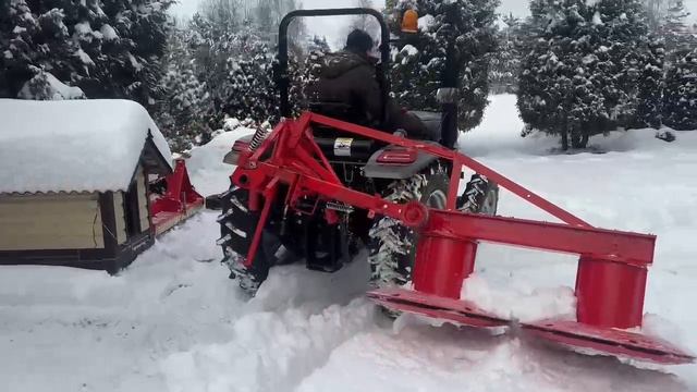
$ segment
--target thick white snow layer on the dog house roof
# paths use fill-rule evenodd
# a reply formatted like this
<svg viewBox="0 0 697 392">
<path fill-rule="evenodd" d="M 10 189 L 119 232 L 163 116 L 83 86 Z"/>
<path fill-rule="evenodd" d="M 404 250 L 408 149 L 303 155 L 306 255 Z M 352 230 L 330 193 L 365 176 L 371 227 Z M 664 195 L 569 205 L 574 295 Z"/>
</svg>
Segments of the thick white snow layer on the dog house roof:
<svg viewBox="0 0 697 392">
<path fill-rule="evenodd" d="M 0 194 L 126 191 L 140 158 L 172 170 L 172 154 L 129 100 L 0 99 Z"/>
</svg>

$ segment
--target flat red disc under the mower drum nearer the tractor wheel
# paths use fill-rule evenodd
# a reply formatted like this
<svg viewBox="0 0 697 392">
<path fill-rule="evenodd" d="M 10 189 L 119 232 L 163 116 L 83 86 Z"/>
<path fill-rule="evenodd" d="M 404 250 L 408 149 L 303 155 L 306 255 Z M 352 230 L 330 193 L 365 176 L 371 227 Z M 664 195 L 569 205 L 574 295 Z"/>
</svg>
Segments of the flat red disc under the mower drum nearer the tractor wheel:
<svg viewBox="0 0 697 392">
<path fill-rule="evenodd" d="M 460 324 L 491 328 L 509 323 L 509 321 L 481 310 L 467 301 L 450 299 L 404 289 L 381 289 L 368 292 L 367 295 L 374 302 L 393 310 L 449 320 Z"/>
</svg>

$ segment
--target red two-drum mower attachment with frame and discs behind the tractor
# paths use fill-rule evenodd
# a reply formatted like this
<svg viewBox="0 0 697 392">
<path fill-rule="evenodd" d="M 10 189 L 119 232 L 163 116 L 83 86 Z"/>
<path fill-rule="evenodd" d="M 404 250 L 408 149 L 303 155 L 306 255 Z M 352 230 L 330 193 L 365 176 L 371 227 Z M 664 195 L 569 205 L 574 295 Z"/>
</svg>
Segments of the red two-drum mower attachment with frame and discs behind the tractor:
<svg viewBox="0 0 697 392">
<path fill-rule="evenodd" d="M 419 150 L 452 162 L 447 209 L 419 203 L 394 204 L 345 187 L 313 137 L 313 125 Z M 282 121 L 256 150 L 240 156 L 232 182 L 249 191 L 249 208 L 260 210 L 245 265 L 250 267 L 261 230 L 279 185 L 288 186 L 285 205 L 302 211 L 310 196 L 388 216 L 419 233 L 413 272 L 414 290 L 389 289 L 368 293 L 377 303 L 402 311 L 473 327 L 513 322 L 478 309 L 461 298 L 463 281 L 475 267 L 479 242 L 579 255 L 576 277 L 576 321 L 543 320 L 522 328 L 545 340 L 661 364 L 690 363 L 694 357 L 670 343 L 628 332 L 641 326 L 648 267 L 653 262 L 656 236 L 597 229 L 549 203 L 476 160 L 438 145 L 409 140 L 384 132 L 311 112 Z M 501 187 L 547 211 L 564 223 L 468 215 L 455 210 L 462 168 L 485 175 Z M 261 203 L 264 198 L 264 203 Z M 337 221 L 328 210 L 326 219 Z"/>
</svg>

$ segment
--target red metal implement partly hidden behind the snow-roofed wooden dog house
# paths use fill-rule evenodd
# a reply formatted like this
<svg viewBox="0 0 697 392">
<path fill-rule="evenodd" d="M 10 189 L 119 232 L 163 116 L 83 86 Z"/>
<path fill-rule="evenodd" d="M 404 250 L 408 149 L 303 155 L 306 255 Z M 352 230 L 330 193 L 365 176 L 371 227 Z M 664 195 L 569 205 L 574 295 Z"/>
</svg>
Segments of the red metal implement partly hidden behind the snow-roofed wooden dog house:
<svg viewBox="0 0 697 392">
<path fill-rule="evenodd" d="M 204 208 L 204 197 L 194 189 L 183 159 L 176 160 L 174 172 L 164 181 L 167 191 L 150 203 L 156 235 L 167 232 Z"/>
</svg>

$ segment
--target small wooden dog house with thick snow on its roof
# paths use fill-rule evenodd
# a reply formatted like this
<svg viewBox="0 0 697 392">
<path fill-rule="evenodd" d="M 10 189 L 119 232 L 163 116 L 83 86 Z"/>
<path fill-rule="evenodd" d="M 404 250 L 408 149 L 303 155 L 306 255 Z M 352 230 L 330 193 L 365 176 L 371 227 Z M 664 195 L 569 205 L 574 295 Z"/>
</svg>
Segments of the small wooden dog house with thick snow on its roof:
<svg viewBox="0 0 697 392">
<path fill-rule="evenodd" d="M 0 99 L 0 264 L 115 272 L 154 243 L 147 179 L 172 162 L 145 108 Z"/>
</svg>

